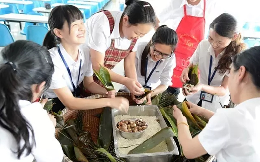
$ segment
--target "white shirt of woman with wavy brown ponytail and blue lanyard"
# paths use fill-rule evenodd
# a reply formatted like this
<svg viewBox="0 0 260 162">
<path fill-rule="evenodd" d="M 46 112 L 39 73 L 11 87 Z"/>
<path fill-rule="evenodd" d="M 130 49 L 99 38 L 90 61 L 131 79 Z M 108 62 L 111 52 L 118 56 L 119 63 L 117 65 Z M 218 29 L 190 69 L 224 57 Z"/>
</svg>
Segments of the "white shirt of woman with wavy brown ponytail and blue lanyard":
<svg viewBox="0 0 260 162">
<path fill-rule="evenodd" d="M 223 51 L 224 52 L 224 51 Z M 215 52 L 214 49 L 212 48 L 212 46 L 210 45 L 210 43 L 208 42 L 208 40 L 202 40 L 196 51 L 194 52 L 194 54 L 192 55 L 190 62 L 192 62 L 193 65 L 199 64 L 199 70 L 200 70 L 200 78 L 199 78 L 199 82 L 201 84 L 206 84 L 208 85 L 208 72 L 209 72 L 209 65 L 210 65 L 210 56 L 213 57 L 212 59 L 212 66 L 211 66 L 211 76 L 215 70 L 215 67 L 217 67 L 218 65 L 218 61 L 219 59 L 222 57 L 222 53 L 220 53 L 217 58 L 215 57 Z M 221 86 L 222 81 L 224 79 L 225 76 L 229 76 L 229 71 L 226 71 L 226 73 L 224 75 L 220 75 L 219 74 L 219 70 L 216 72 L 213 80 L 210 83 L 210 86 Z M 201 91 L 193 94 L 193 95 L 189 95 L 186 97 L 186 99 L 194 104 L 198 104 L 198 102 L 200 101 L 200 94 Z M 222 104 L 222 106 L 224 106 L 224 102 L 226 102 L 226 100 L 229 99 L 229 93 L 227 93 L 224 96 L 217 96 L 214 95 L 213 97 L 213 102 L 206 102 L 206 101 L 202 101 L 202 107 L 206 108 L 208 110 L 211 110 L 213 112 L 216 112 L 216 110 L 218 108 L 222 108 L 220 103 Z"/>
</svg>

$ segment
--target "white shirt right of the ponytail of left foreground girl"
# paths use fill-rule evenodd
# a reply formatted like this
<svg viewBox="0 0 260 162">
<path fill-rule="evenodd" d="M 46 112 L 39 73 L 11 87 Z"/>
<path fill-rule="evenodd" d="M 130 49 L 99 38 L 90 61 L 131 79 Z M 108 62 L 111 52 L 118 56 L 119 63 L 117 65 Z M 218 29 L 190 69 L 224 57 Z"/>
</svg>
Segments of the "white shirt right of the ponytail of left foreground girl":
<svg viewBox="0 0 260 162">
<path fill-rule="evenodd" d="M 32 149 L 32 154 L 37 162 L 62 162 L 64 154 L 55 138 L 52 121 L 39 102 L 33 104 L 33 109 L 23 110 L 34 131 L 36 146 Z"/>
</svg>

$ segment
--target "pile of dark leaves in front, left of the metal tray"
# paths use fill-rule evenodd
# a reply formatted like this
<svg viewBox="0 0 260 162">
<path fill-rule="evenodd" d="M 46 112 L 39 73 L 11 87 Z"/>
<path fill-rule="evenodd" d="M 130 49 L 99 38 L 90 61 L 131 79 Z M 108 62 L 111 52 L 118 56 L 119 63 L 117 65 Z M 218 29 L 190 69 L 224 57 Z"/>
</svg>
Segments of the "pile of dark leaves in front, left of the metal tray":
<svg viewBox="0 0 260 162">
<path fill-rule="evenodd" d="M 68 119 L 58 131 L 57 139 L 64 154 L 73 162 L 125 162 L 113 154 L 110 108 L 104 108 L 101 114 L 97 143 L 92 140 L 90 132 L 83 130 L 84 116 L 84 111 L 78 111 L 76 120 Z"/>
</svg>

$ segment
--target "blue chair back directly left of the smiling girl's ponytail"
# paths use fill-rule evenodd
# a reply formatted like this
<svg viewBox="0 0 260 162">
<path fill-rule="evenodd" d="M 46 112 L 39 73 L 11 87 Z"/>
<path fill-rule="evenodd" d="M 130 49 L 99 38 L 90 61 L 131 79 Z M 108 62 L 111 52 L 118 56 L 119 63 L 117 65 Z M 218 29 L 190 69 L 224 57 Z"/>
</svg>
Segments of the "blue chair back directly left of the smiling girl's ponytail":
<svg viewBox="0 0 260 162">
<path fill-rule="evenodd" d="M 29 25 L 26 40 L 42 45 L 44 37 L 49 29 L 45 26 Z"/>
</svg>

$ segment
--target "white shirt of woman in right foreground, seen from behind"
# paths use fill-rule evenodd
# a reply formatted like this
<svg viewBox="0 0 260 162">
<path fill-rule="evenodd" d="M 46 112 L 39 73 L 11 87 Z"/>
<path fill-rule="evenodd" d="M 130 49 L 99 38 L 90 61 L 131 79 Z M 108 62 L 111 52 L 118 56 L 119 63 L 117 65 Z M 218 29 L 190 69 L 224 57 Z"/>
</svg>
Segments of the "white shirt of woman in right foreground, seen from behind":
<svg viewBox="0 0 260 162">
<path fill-rule="evenodd" d="M 217 162 L 260 162 L 260 98 L 235 108 L 218 109 L 199 134 L 199 141 Z"/>
</svg>

